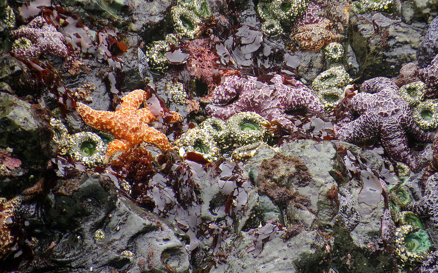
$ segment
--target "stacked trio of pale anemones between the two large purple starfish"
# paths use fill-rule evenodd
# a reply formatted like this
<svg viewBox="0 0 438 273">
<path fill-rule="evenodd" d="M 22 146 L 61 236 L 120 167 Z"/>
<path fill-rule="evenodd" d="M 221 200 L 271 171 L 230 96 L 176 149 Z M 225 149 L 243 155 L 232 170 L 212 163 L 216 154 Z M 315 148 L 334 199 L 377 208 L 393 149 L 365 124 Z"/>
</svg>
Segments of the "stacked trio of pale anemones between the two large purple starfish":
<svg viewBox="0 0 438 273">
<path fill-rule="evenodd" d="M 342 44 L 332 42 L 326 46 L 324 52 L 327 63 L 331 65 L 313 80 L 312 89 L 324 105 L 324 109 L 330 111 L 343 98 L 344 89 L 352 79 L 340 64 L 344 56 Z"/>
</svg>

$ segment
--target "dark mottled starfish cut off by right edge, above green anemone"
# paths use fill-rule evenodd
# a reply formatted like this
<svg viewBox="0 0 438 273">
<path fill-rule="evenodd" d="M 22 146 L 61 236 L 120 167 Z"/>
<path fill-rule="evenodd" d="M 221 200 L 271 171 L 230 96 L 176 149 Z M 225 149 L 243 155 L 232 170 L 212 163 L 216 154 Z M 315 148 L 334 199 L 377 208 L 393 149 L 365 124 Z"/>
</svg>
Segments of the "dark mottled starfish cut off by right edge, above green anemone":
<svg viewBox="0 0 438 273">
<path fill-rule="evenodd" d="M 427 180 L 423 197 L 420 201 L 411 202 L 406 209 L 417 214 L 438 227 L 438 175 L 434 174 Z"/>
</svg>

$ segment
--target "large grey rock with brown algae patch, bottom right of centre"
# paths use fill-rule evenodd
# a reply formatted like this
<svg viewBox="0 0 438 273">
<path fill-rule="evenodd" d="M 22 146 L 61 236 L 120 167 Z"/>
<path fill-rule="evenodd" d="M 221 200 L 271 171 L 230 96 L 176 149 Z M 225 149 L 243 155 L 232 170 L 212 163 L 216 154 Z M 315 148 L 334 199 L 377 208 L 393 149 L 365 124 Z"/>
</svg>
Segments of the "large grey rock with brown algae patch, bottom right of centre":
<svg viewBox="0 0 438 273">
<path fill-rule="evenodd" d="M 383 248 L 379 245 L 383 201 L 377 207 L 359 204 L 361 187 L 353 177 L 347 179 L 346 188 L 342 189 L 351 192 L 350 201 L 354 203 L 350 204 L 352 213 L 348 215 L 347 210 L 340 212 L 351 221 L 348 225 L 346 221 L 339 221 L 342 217 L 337 214 L 337 183 L 331 174 L 345 170 L 337 162 L 339 155 L 333 143 L 298 140 L 285 142 L 280 148 L 281 155 L 257 151 L 243 169 L 249 170 L 254 182 L 264 180 L 265 185 L 257 184 L 259 194 L 263 194 L 266 185 L 270 185 L 271 191 L 268 190 L 265 197 L 272 199 L 282 212 L 280 219 L 288 224 L 288 231 L 273 239 L 270 237 L 256 257 L 247 254 L 253 245 L 248 238 L 253 231 L 243 233 L 240 242 L 232 242 L 233 251 L 227 264 L 220 265 L 218 270 L 254 272 L 263 268 L 276 272 L 311 272 L 311 268 L 318 272 L 329 269 L 339 272 L 387 272 L 393 268 L 391 256 L 383 255 Z M 371 152 L 364 157 L 369 159 L 364 159 L 364 162 L 380 170 L 383 164 L 381 157 L 375 162 L 371 160 Z M 277 186 L 276 191 L 274 185 Z M 289 200 L 281 204 L 278 198 L 294 193 L 292 190 L 296 191 L 293 197 L 302 197 L 302 203 L 292 205 Z"/>
</svg>

